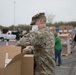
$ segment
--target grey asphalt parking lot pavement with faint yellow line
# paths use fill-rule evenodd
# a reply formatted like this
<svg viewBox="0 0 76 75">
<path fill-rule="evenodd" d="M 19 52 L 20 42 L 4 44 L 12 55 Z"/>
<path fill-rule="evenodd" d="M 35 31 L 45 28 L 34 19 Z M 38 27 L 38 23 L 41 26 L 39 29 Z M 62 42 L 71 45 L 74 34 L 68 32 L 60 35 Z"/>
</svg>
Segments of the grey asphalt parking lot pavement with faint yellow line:
<svg viewBox="0 0 76 75">
<path fill-rule="evenodd" d="M 7 41 L 0 41 L 0 46 L 6 46 Z M 16 42 L 8 41 L 9 46 L 15 46 Z M 76 48 L 68 55 L 62 56 L 62 65 L 56 66 L 55 75 L 76 75 Z"/>
</svg>

